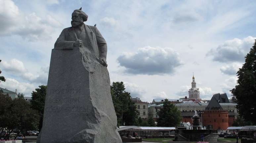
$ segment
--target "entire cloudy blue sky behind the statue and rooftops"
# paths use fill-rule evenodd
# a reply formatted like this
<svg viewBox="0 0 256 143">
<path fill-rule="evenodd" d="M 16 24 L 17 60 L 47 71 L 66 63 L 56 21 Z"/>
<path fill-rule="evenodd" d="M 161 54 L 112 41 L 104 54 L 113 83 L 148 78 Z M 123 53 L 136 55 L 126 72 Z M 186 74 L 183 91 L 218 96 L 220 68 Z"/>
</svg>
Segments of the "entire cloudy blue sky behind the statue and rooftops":
<svg viewBox="0 0 256 143">
<path fill-rule="evenodd" d="M 30 96 L 47 84 L 51 49 L 82 7 L 107 41 L 111 82 L 133 97 L 229 93 L 256 39 L 255 1 L 0 0 L 0 86 Z"/>
</svg>

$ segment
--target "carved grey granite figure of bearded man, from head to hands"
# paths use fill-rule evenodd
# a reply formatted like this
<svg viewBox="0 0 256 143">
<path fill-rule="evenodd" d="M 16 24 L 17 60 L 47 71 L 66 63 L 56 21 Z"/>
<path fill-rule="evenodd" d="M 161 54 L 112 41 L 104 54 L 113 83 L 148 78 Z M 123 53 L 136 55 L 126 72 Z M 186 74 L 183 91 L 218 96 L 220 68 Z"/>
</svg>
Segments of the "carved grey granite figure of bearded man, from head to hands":
<svg viewBox="0 0 256 143">
<path fill-rule="evenodd" d="M 84 24 L 88 15 L 82 11 L 74 10 L 72 13 L 72 27 L 65 28 L 57 41 L 54 48 L 60 50 L 69 50 L 76 47 L 89 48 L 95 55 L 99 55 L 102 65 L 107 66 L 107 43 L 96 26 Z"/>
</svg>

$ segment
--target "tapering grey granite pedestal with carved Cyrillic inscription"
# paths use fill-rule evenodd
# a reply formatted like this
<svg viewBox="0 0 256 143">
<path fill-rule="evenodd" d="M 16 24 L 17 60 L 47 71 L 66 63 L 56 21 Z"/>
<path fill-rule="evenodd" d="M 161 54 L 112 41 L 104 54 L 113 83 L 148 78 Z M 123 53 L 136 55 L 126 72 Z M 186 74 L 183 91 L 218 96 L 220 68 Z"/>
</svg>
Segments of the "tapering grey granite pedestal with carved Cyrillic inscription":
<svg viewBox="0 0 256 143">
<path fill-rule="evenodd" d="M 107 67 L 86 48 L 52 50 L 40 143 L 121 143 Z"/>
</svg>

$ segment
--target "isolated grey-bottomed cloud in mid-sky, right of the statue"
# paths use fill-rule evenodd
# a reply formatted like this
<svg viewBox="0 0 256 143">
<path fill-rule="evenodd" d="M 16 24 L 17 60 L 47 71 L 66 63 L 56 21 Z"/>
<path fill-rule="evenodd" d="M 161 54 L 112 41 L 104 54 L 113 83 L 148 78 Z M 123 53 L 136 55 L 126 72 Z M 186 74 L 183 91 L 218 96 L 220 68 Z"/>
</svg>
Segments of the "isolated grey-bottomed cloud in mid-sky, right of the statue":
<svg viewBox="0 0 256 143">
<path fill-rule="evenodd" d="M 150 46 L 139 48 L 136 53 L 123 53 L 117 60 L 127 73 L 147 75 L 173 74 L 183 64 L 172 48 Z"/>
</svg>

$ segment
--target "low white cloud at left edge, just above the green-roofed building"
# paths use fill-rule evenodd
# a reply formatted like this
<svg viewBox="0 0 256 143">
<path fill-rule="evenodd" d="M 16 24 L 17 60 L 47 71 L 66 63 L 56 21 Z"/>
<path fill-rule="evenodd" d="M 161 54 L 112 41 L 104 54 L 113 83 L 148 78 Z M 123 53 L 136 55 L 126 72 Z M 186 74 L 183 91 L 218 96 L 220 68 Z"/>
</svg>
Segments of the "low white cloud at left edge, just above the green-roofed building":
<svg viewBox="0 0 256 143">
<path fill-rule="evenodd" d="M 25 95 L 31 95 L 31 92 L 35 90 L 35 86 L 33 84 L 18 82 L 11 78 L 6 78 L 6 81 L 1 82 L 0 86 L 11 91 L 15 91 L 15 89 L 17 89 L 17 92 L 24 93 Z"/>
</svg>

